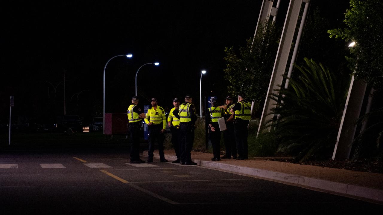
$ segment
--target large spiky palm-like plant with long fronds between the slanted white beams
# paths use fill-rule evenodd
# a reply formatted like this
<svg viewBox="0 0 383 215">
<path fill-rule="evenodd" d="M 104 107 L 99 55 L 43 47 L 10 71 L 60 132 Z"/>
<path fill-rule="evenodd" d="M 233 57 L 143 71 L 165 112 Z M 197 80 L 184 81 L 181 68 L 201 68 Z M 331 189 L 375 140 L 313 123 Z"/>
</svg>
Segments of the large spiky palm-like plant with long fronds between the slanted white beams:
<svg viewBox="0 0 383 215">
<path fill-rule="evenodd" d="M 350 78 L 330 72 L 313 60 L 306 66 L 295 67 L 300 75 L 290 80 L 290 87 L 280 86 L 272 94 L 277 106 L 270 114 L 278 115 L 268 121 L 278 133 L 278 151 L 295 155 L 297 160 L 327 156 L 334 147 L 344 108 Z"/>
</svg>

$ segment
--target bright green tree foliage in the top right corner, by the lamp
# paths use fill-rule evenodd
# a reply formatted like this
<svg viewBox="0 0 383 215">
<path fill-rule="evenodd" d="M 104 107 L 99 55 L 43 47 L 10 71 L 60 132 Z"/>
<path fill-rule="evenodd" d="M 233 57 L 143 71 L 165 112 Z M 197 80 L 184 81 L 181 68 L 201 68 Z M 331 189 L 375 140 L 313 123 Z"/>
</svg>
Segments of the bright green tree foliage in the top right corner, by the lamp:
<svg viewBox="0 0 383 215">
<path fill-rule="evenodd" d="M 327 31 L 330 37 L 354 41 L 353 57 L 346 57 L 355 78 L 365 79 L 376 90 L 383 90 L 383 1 L 350 0 L 345 13 L 346 28 Z"/>
</svg>

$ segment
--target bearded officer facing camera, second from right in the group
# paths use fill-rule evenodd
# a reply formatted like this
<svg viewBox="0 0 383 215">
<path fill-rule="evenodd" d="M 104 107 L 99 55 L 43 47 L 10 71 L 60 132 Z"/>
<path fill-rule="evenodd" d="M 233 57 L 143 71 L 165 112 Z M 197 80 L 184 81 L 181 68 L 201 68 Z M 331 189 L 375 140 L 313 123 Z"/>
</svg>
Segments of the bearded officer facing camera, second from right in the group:
<svg viewBox="0 0 383 215">
<path fill-rule="evenodd" d="M 226 107 L 224 112 L 224 117 L 226 120 L 226 130 L 223 132 L 223 138 L 225 141 L 225 155 L 221 158 L 231 158 L 237 159 L 237 146 L 236 139 L 234 137 L 234 114 L 230 110 L 235 106 L 233 104 L 233 99 L 228 96 L 225 99 Z"/>
</svg>

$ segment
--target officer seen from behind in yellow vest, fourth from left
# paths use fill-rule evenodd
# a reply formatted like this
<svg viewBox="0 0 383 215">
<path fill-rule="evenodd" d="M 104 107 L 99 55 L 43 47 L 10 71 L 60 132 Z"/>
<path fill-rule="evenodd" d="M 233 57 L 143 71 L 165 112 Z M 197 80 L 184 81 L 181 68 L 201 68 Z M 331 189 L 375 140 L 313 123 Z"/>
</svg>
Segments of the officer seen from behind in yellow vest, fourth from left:
<svg viewBox="0 0 383 215">
<path fill-rule="evenodd" d="M 178 108 L 180 117 L 180 163 L 182 165 L 197 165 L 197 163 L 191 161 L 191 149 L 193 148 L 195 121 L 197 119 L 194 104 L 191 102 L 192 97 L 190 94 L 187 94 L 185 96 L 185 103 L 182 103 Z M 177 116 L 175 111 L 173 111 L 173 114 Z"/>
</svg>

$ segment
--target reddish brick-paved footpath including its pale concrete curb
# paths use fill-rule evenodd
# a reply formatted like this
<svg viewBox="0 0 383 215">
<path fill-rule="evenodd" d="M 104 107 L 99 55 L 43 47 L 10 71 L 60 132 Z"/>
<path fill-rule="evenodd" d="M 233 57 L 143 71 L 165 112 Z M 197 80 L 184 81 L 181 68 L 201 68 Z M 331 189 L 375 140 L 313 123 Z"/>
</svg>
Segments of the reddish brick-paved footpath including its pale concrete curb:
<svg viewBox="0 0 383 215">
<path fill-rule="evenodd" d="M 169 161 L 177 159 L 173 150 L 164 153 Z M 142 155 L 147 156 L 147 151 Z M 383 204 L 383 174 L 380 173 L 265 160 L 267 158 L 211 161 L 212 157 L 210 153 L 191 152 L 191 159 L 199 166 Z M 154 158 L 159 158 L 157 150 Z"/>
</svg>

